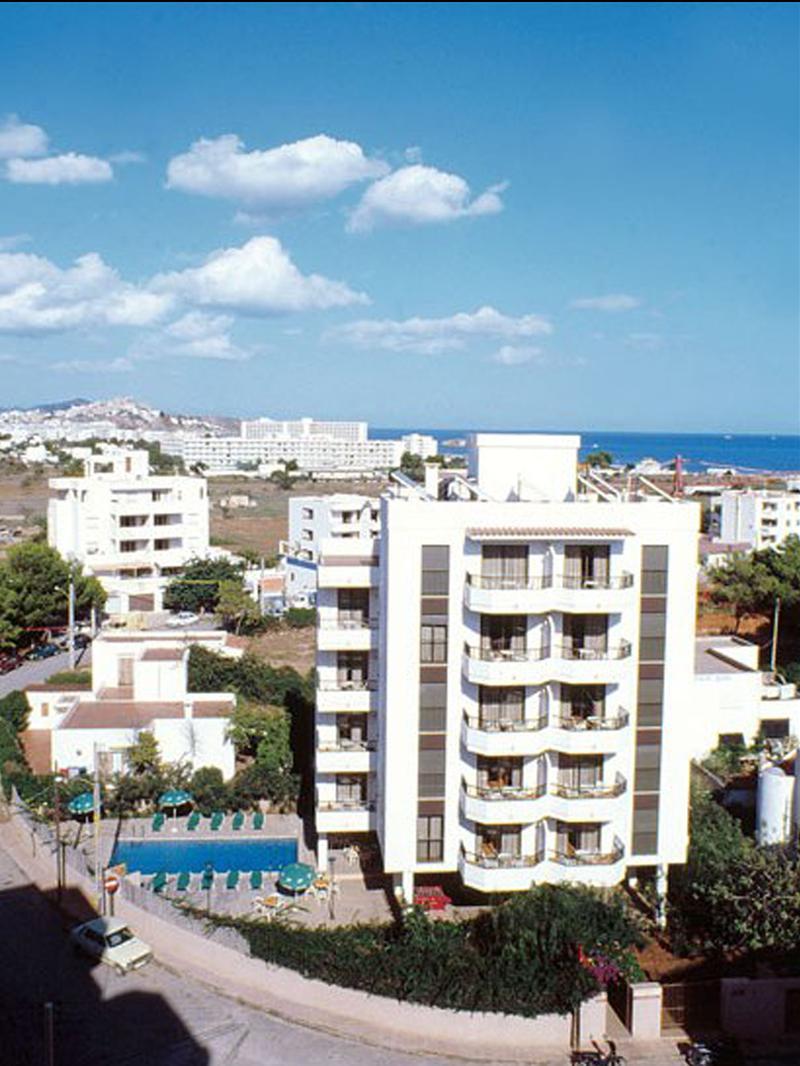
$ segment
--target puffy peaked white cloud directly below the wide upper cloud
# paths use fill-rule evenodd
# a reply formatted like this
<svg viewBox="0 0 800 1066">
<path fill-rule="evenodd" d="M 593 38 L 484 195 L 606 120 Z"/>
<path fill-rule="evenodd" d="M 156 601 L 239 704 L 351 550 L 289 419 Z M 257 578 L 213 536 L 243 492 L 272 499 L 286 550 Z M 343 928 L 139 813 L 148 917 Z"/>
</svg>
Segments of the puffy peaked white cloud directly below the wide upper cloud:
<svg viewBox="0 0 800 1066">
<path fill-rule="evenodd" d="M 202 266 L 157 275 L 151 287 L 196 307 L 255 316 L 369 303 L 343 281 L 301 274 L 274 237 L 254 237 L 241 247 L 221 248 Z"/>
</svg>

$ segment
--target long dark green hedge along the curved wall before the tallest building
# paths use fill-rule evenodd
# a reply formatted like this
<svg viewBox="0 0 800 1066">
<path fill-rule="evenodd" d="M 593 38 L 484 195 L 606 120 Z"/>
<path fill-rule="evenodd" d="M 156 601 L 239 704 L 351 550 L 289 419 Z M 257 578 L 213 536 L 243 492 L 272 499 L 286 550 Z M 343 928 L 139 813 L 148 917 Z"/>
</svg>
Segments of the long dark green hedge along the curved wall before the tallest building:
<svg viewBox="0 0 800 1066">
<path fill-rule="evenodd" d="M 308 928 L 221 918 L 253 955 L 327 984 L 461 1011 L 567 1014 L 601 987 L 581 958 L 630 972 L 637 926 L 617 897 L 541 886 L 478 918 Z"/>
</svg>

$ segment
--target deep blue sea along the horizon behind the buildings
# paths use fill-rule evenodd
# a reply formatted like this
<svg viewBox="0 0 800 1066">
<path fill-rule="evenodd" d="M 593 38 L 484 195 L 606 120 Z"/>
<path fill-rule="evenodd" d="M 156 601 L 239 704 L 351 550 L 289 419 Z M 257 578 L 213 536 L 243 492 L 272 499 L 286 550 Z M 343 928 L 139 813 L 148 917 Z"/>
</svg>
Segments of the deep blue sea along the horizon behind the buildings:
<svg viewBox="0 0 800 1066">
<path fill-rule="evenodd" d="M 464 451 L 464 438 L 476 430 L 407 430 L 370 427 L 370 436 L 389 439 L 406 433 L 427 433 L 439 442 L 444 454 Z M 493 432 L 493 431 L 486 431 Z M 709 467 L 734 467 L 742 473 L 800 473 L 800 435 L 733 433 L 619 433 L 605 430 L 503 430 L 503 433 L 577 433 L 581 457 L 587 452 L 606 451 L 614 463 L 636 464 L 653 458 L 668 463 L 679 455 L 684 469 L 702 472 Z"/>
</svg>

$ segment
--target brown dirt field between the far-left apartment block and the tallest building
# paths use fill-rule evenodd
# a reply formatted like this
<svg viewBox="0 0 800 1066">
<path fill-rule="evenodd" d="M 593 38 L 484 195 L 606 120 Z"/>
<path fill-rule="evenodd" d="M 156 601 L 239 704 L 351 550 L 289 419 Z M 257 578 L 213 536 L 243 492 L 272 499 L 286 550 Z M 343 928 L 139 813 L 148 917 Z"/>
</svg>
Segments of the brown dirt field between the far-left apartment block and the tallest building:
<svg viewBox="0 0 800 1066">
<path fill-rule="evenodd" d="M 290 489 L 268 481 L 250 478 L 209 479 L 211 502 L 211 543 L 230 551 L 250 550 L 263 555 L 277 551 L 278 540 L 288 534 L 289 498 L 292 496 L 332 496 L 334 492 L 358 492 L 378 496 L 385 482 L 297 482 Z M 220 500 L 230 495 L 247 495 L 253 507 L 222 508 Z"/>
</svg>

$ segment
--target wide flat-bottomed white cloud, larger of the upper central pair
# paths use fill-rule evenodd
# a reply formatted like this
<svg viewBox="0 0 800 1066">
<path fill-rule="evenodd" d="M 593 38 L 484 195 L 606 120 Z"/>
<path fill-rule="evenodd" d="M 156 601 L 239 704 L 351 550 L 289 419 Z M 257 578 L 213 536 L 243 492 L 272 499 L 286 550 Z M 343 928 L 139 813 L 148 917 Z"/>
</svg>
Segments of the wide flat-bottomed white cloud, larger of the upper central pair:
<svg viewBox="0 0 800 1066">
<path fill-rule="evenodd" d="M 169 189 L 220 196 L 284 211 L 331 199 L 357 181 L 380 177 L 386 163 L 352 141 L 317 136 L 246 151 L 235 133 L 195 141 L 166 168 Z"/>
</svg>

